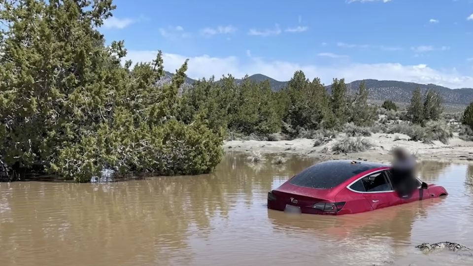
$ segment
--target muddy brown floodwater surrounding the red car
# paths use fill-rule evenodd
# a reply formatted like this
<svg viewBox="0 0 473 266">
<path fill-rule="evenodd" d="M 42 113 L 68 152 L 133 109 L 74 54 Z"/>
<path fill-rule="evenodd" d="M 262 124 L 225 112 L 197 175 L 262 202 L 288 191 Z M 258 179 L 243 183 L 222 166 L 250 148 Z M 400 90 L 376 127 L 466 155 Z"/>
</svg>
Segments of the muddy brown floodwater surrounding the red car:
<svg viewBox="0 0 473 266">
<path fill-rule="evenodd" d="M 229 156 L 213 174 L 71 184 L 0 184 L 0 266 L 472 265 L 470 253 L 424 255 L 422 242 L 473 247 L 473 166 L 423 162 L 424 200 L 339 217 L 288 216 L 267 192 L 314 159 L 286 166 Z M 471 177 L 473 178 L 473 177 Z M 459 255 L 460 254 L 460 255 Z"/>
</svg>

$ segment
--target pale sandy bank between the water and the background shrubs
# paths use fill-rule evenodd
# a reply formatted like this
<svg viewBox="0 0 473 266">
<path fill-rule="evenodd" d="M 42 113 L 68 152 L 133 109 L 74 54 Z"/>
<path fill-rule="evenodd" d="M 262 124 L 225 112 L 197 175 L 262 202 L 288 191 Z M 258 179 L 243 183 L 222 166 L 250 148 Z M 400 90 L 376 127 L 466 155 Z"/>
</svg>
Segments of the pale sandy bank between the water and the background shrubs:
<svg viewBox="0 0 473 266">
<path fill-rule="evenodd" d="M 433 144 L 425 144 L 420 141 L 410 141 L 404 134 L 374 133 L 369 139 L 373 148 L 365 152 L 334 154 L 331 146 L 336 139 L 325 145 L 313 147 L 313 139 L 299 138 L 281 141 L 256 141 L 256 140 L 232 140 L 224 143 L 225 151 L 262 153 L 288 153 L 301 156 L 320 157 L 324 159 L 359 159 L 377 162 L 388 162 L 391 160 L 390 151 L 395 146 L 402 146 L 417 154 L 419 160 L 441 160 L 441 161 L 473 161 L 473 141 L 464 141 L 458 137 L 450 139 L 447 145 L 440 141 Z M 328 150 L 324 152 L 325 150 Z"/>
</svg>

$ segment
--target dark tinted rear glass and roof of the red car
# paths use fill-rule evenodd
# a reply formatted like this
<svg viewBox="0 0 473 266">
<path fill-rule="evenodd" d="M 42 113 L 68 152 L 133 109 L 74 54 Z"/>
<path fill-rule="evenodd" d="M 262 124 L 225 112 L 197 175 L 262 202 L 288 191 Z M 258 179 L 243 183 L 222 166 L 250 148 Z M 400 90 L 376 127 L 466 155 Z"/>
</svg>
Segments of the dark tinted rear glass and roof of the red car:
<svg viewBox="0 0 473 266">
<path fill-rule="evenodd" d="M 351 161 L 344 160 L 328 161 L 304 169 L 291 178 L 289 183 L 306 188 L 330 189 L 356 174 L 380 166 L 384 165 L 369 162 L 352 164 Z"/>
</svg>

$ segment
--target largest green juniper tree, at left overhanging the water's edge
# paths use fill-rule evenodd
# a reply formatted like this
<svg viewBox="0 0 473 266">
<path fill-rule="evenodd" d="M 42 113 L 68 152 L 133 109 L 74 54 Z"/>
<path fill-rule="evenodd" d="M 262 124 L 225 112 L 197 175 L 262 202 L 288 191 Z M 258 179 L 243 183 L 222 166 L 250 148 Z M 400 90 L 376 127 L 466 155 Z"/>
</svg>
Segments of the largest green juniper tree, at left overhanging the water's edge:
<svg viewBox="0 0 473 266">
<path fill-rule="evenodd" d="M 98 31 L 111 0 L 0 0 L 0 156 L 8 165 L 41 164 L 87 181 L 104 167 L 162 174 L 210 172 L 223 138 L 209 129 L 208 109 L 176 119 L 178 88 L 162 54 L 121 62 L 123 41 L 105 46 Z"/>
</svg>

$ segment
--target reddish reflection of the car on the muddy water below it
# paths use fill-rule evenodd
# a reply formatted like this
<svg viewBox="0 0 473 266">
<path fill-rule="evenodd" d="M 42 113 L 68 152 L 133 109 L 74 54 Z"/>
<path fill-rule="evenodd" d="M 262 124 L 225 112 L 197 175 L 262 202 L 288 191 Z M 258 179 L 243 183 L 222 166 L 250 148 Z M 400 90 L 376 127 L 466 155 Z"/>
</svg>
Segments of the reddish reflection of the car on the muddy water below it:
<svg viewBox="0 0 473 266">
<path fill-rule="evenodd" d="M 356 260 L 360 265 L 385 260 L 383 250 L 392 249 L 395 257 L 405 256 L 410 250 L 411 232 L 416 221 L 428 217 L 430 206 L 438 205 L 444 199 L 428 199 L 377 211 L 333 216 L 301 215 L 300 217 L 268 210 L 268 218 L 275 232 L 296 238 L 314 237 L 327 239 L 343 247 L 337 262 Z M 347 248 L 349 247 L 349 248 Z M 366 252 L 377 249 L 379 253 Z M 331 260 L 327 254 L 326 260 Z M 393 258 L 391 258 L 393 259 Z M 334 261 L 335 262 L 335 261 Z"/>
</svg>

